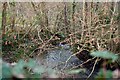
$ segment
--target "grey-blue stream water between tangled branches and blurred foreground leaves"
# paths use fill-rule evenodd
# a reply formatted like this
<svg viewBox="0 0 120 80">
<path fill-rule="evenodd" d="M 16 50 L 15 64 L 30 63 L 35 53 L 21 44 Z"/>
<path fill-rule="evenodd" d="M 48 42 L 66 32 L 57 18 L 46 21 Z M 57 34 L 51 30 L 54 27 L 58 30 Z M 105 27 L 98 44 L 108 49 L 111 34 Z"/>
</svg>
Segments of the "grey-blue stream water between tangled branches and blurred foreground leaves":
<svg viewBox="0 0 120 80">
<path fill-rule="evenodd" d="M 67 70 L 83 63 L 83 61 L 80 61 L 76 56 L 73 56 L 68 60 L 72 54 L 73 53 L 69 49 L 58 48 L 36 57 L 36 62 L 39 66 L 44 66 L 45 69 L 51 69 L 55 72 L 59 72 L 60 75 L 65 76 L 64 73 Z M 67 60 L 68 62 L 65 63 Z M 89 69 L 86 69 L 85 72 L 80 72 L 72 76 L 76 78 L 87 78 L 90 72 Z M 96 74 L 97 72 L 94 72 L 91 77 L 94 77 Z"/>
</svg>

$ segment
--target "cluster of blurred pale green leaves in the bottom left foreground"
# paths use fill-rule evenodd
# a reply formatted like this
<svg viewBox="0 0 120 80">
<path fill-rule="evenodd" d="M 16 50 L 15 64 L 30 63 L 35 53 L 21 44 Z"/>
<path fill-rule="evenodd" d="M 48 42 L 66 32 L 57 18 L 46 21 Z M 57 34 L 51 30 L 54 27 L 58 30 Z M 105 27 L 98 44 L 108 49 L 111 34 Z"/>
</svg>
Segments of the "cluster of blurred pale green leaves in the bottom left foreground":
<svg viewBox="0 0 120 80">
<path fill-rule="evenodd" d="M 31 74 L 29 70 L 32 70 L 34 74 Z M 2 65 L 2 77 L 11 78 L 12 76 L 18 78 L 42 78 L 41 73 L 45 72 L 43 67 L 37 66 L 34 60 L 30 59 L 28 62 L 20 60 L 17 65 L 11 67 L 9 64 L 4 63 Z"/>
</svg>

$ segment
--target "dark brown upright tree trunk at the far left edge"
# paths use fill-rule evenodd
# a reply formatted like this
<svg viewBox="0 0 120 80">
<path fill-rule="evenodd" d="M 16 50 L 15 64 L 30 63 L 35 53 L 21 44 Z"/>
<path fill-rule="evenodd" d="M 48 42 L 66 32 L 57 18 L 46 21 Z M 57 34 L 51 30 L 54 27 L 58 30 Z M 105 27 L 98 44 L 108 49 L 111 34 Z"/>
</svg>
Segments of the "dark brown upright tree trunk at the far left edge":
<svg viewBox="0 0 120 80">
<path fill-rule="evenodd" d="M 5 33 L 5 26 L 6 26 L 6 8 L 7 2 L 3 3 L 3 10 L 2 10 L 2 34 Z"/>
</svg>

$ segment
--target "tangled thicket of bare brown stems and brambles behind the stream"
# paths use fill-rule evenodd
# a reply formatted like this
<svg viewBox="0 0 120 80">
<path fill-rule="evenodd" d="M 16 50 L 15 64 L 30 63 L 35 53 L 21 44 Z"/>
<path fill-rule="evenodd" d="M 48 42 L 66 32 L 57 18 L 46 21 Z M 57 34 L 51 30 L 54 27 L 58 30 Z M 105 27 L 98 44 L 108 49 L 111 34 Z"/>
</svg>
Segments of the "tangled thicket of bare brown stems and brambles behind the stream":
<svg viewBox="0 0 120 80">
<path fill-rule="evenodd" d="M 4 61 L 26 61 L 59 47 L 59 44 L 70 46 L 73 55 L 84 62 L 93 51 L 120 54 L 117 2 L 0 4 L 1 55 Z"/>
</svg>

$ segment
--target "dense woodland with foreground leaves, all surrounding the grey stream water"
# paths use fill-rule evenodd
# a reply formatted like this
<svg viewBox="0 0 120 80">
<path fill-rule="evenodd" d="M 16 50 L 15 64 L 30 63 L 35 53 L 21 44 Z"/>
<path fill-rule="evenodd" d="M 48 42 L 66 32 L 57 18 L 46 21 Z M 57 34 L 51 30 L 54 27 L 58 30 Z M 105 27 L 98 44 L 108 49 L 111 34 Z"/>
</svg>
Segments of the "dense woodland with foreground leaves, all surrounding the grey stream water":
<svg viewBox="0 0 120 80">
<path fill-rule="evenodd" d="M 93 78 L 120 78 L 119 2 L 0 2 L 0 7 L 3 78 L 74 78 L 85 69 L 87 78 L 94 71 Z M 72 52 L 61 64 L 72 57 L 82 63 L 69 74 L 44 75 L 36 57 L 57 49 Z"/>
</svg>

